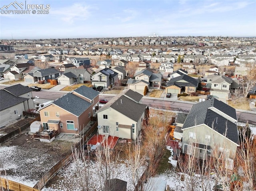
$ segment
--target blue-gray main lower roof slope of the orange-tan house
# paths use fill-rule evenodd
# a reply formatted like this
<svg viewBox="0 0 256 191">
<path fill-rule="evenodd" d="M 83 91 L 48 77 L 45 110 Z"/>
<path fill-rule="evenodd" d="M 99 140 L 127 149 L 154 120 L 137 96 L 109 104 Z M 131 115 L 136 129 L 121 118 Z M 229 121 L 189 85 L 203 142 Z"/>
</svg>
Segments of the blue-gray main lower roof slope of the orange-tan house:
<svg viewBox="0 0 256 191">
<path fill-rule="evenodd" d="M 80 116 L 91 105 L 88 101 L 72 94 L 68 93 L 53 102 L 53 104 L 67 110 L 68 112 Z"/>
</svg>

